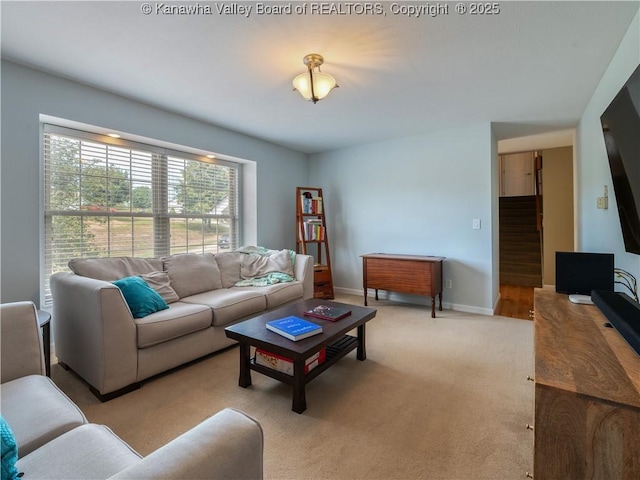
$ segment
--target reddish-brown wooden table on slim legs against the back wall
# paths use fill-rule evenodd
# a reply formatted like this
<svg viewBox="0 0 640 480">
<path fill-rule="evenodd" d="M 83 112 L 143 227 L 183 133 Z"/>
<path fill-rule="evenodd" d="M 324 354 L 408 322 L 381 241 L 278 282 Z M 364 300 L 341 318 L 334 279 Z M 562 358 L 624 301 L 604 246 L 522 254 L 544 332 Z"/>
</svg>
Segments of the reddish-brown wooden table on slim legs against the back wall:
<svg viewBox="0 0 640 480">
<path fill-rule="evenodd" d="M 367 290 L 374 288 L 376 300 L 378 290 L 412 293 L 431 297 L 431 316 L 436 316 L 436 296 L 442 310 L 442 262 L 445 257 L 423 255 L 395 255 L 369 253 L 362 255 L 362 284 L 364 304 L 367 305 Z"/>
</svg>

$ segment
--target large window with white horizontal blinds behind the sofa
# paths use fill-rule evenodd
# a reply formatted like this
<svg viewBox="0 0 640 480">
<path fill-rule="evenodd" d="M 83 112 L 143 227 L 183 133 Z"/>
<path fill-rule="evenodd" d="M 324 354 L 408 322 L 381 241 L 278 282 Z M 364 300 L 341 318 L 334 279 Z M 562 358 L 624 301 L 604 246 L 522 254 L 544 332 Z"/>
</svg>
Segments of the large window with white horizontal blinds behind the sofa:
<svg viewBox="0 0 640 480">
<path fill-rule="evenodd" d="M 239 168 L 45 125 L 44 292 L 77 257 L 161 257 L 237 245 Z"/>
</svg>

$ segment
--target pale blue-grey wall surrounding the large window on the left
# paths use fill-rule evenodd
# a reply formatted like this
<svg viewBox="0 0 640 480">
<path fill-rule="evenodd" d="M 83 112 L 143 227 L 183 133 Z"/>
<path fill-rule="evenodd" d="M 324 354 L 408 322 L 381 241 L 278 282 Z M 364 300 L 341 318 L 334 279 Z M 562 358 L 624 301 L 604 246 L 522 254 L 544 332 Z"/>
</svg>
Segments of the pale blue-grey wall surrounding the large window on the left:
<svg viewBox="0 0 640 480">
<path fill-rule="evenodd" d="M 134 100 L 2 62 L 0 301 L 40 300 L 40 115 L 49 115 L 255 163 L 257 208 L 251 238 L 295 248 L 295 186 L 307 183 L 308 159 L 247 135 Z M 252 200 L 251 200 L 252 198 Z"/>
</svg>

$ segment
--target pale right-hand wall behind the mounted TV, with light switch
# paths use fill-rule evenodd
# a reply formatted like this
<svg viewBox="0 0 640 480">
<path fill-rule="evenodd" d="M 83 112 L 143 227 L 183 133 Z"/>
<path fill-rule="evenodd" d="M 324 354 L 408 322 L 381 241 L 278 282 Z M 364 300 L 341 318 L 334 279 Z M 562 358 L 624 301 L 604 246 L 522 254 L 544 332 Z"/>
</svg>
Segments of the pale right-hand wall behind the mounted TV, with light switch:
<svg viewBox="0 0 640 480">
<path fill-rule="evenodd" d="M 624 251 L 615 192 L 600 125 L 600 115 L 640 63 L 640 13 L 636 14 L 618 51 L 589 101 L 576 132 L 577 246 L 580 251 L 611 252 L 617 267 L 640 277 L 640 257 Z M 609 208 L 596 208 L 596 198 L 609 187 Z"/>
</svg>

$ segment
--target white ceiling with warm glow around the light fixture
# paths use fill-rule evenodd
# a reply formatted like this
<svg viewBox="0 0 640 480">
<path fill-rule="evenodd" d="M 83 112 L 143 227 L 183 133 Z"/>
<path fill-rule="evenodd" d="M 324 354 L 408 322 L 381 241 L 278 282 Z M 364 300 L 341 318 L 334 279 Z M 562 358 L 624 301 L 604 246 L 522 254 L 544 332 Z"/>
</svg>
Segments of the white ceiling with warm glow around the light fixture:
<svg viewBox="0 0 640 480">
<path fill-rule="evenodd" d="M 386 1 L 373 16 L 182 3 L 213 14 L 3 0 L 2 57 L 308 153 L 488 121 L 504 139 L 575 126 L 640 4 L 502 1 L 474 16 L 440 2 L 448 15 L 409 18 Z M 291 87 L 308 53 L 340 85 L 315 105 Z"/>
</svg>

